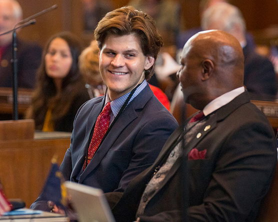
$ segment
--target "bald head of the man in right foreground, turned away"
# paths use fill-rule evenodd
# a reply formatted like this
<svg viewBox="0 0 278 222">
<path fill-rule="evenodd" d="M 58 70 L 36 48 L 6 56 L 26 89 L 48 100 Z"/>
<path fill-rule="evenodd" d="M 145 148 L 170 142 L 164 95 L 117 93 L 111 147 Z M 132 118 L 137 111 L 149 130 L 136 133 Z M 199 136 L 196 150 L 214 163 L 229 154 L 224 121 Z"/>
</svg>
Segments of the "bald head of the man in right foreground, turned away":
<svg viewBox="0 0 278 222">
<path fill-rule="evenodd" d="M 195 108 L 202 109 L 214 98 L 243 85 L 242 48 L 224 31 L 193 35 L 183 47 L 180 63 L 180 85 L 186 102 Z"/>
</svg>

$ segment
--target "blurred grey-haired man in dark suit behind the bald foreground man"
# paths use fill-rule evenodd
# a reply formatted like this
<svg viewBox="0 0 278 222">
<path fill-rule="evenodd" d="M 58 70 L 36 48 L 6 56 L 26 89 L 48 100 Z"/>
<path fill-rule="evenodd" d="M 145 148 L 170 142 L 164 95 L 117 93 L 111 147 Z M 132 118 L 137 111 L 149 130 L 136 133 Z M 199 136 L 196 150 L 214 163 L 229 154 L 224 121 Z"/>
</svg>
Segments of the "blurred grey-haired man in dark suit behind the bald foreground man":
<svg viewBox="0 0 278 222">
<path fill-rule="evenodd" d="M 251 99 L 275 99 L 276 75 L 268 58 L 257 54 L 246 40 L 246 26 L 240 10 L 229 3 L 219 2 L 207 8 L 202 16 L 203 30 L 224 30 L 237 38 L 244 54 L 244 85 Z"/>
</svg>

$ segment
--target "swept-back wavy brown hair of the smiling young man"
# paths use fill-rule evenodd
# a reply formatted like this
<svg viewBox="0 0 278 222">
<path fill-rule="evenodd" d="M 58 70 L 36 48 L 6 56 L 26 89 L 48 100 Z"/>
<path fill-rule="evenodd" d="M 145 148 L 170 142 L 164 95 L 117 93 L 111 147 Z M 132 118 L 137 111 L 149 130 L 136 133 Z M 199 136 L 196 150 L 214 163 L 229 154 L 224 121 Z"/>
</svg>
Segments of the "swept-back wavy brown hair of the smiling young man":
<svg viewBox="0 0 278 222">
<path fill-rule="evenodd" d="M 135 33 L 140 40 L 141 49 L 145 56 L 153 56 L 163 45 L 155 22 L 151 16 L 132 6 L 124 6 L 106 13 L 98 22 L 94 30 L 94 38 L 101 49 L 107 35 L 125 35 Z M 154 65 L 145 70 L 145 79 L 148 80 L 154 72 Z"/>
</svg>

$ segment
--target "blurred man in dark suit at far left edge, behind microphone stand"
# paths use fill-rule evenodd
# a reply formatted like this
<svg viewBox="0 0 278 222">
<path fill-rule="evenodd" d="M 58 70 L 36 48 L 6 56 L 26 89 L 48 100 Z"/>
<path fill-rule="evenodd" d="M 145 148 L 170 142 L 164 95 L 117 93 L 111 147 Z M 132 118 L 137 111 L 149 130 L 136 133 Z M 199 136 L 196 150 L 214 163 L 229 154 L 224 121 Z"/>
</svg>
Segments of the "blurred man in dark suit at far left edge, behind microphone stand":
<svg viewBox="0 0 278 222">
<path fill-rule="evenodd" d="M 22 9 L 16 0 L 0 0 L 0 33 L 8 31 L 22 19 Z M 12 32 L 0 36 L 0 87 L 12 87 Z M 17 38 L 18 87 L 33 88 L 39 66 L 41 48 L 33 42 Z"/>
</svg>

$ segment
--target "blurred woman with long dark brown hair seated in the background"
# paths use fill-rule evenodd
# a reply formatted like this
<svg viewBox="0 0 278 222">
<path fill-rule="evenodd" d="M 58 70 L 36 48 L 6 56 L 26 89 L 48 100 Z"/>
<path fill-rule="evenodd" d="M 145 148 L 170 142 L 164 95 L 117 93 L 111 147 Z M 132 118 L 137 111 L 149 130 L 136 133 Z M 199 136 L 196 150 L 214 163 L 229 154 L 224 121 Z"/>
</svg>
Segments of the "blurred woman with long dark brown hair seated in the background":
<svg viewBox="0 0 278 222">
<path fill-rule="evenodd" d="M 78 108 L 89 99 L 78 69 L 80 51 L 79 40 L 69 32 L 57 33 L 46 43 L 26 113 L 35 129 L 72 131 Z"/>
</svg>

